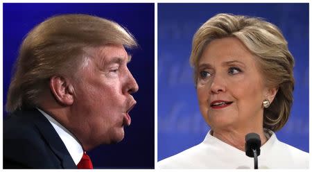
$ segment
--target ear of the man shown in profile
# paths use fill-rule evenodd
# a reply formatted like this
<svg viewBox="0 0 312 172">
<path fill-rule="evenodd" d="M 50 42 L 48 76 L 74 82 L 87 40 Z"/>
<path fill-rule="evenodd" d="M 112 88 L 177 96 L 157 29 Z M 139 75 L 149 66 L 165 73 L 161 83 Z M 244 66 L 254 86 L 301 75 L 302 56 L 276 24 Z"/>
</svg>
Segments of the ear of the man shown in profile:
<svg viewBox="0 0 312 172">
<path fill-rule="evenodd" d="M 62 105 L 72 105 L 74 90 L 73 85 L 62 76 L 52 76 L 50 78 L 50 89 L 58 103 Z"/>
</svg>

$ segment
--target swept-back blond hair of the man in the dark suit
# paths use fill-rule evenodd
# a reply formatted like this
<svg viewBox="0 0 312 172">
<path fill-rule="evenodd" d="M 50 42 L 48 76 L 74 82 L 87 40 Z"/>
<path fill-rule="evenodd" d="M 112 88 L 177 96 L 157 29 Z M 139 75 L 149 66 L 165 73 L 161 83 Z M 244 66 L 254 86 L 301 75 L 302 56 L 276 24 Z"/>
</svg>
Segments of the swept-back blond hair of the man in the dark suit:
<svg viewBox="0 0 312 172">
<path fill-rule="evenodd" d="M 85 48 L 105 44 L 123 44 L 128 49 L 137 46 L 125 28 L 91 15 L 58 15 L 35 26 L 19 49 L 6 110 L 39 105 L 51 76 L 74 74 L 86 58 Z"/>
</svg>

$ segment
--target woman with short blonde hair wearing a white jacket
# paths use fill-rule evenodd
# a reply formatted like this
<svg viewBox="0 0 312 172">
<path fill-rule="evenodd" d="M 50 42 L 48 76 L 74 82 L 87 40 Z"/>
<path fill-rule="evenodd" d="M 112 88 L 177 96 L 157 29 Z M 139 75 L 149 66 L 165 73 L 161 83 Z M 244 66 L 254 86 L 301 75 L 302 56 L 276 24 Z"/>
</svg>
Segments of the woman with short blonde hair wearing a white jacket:
<svg viewBox="0 0 312 172">
<path fill-rule="evenodd" d="M 161 169 L 253 169 L 245 136 L 261 140 L 259 169 L 303 169 L 309 154 L 277 139 L 293 103 L 294 58 L 279 28 L 256 17 L 218 14 L 193 37 L 191 66 L 204 141 L 159 162 Z"/>
</svg>

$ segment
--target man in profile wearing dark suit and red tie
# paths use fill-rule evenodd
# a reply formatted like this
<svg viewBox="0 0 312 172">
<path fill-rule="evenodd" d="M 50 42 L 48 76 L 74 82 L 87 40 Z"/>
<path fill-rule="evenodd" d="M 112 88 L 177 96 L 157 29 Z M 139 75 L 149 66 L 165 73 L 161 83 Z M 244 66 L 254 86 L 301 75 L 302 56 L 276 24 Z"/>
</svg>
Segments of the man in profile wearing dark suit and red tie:
<svg viewBox="0 0 312 172">
<path fill-rule="evenodd" d="M 124 137 L 138 85 L 125 49 L 135 38 L 115 22 L 58 15 L 19 50 L 3 122 L 4 169 L 92 169 L 86 154 Z"/>
</svg>

